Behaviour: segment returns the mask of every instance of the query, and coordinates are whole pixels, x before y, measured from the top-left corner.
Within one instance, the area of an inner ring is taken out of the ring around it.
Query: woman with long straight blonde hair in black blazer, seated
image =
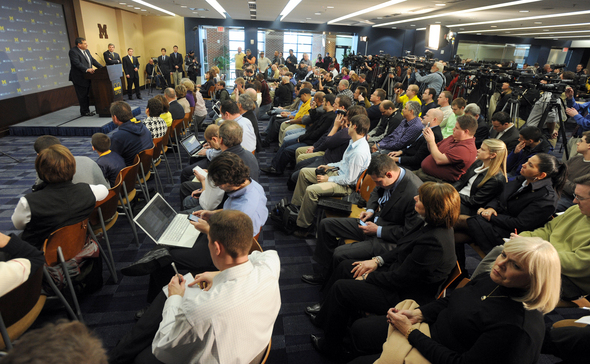
[[[477,150],[477,158],[467,173],[454,184],[461,197],[461,216],[465,224],[480,207],[498,197],[508,182],[506,177],[506,144],[499,139],[486,139]],[[466,224],[464,225],[467,226]]]

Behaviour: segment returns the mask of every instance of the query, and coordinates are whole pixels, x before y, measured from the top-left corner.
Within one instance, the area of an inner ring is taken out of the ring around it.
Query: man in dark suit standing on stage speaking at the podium
[[[90,112],[90,100],[88,95],[90,94],[90,80],[84,78],[86,73],[94,73],[94,68],[103,67],[98,63],[88,51],[88,44],[85,38],[76,38],[76,46],[70,49],[70,69],[69,80],[74,84],[76,90],[76,96],[80,103],[80,114],[82,116],[92,116],[95,113]]]

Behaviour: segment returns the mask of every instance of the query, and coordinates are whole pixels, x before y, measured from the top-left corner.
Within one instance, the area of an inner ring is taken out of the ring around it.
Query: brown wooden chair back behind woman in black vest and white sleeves
[[[52,232],[43,245],[47,265],[53,267],[59,264],[57,248],[60,246],[66,262],[74,258],[84,248],[87,234],[88,219]]]

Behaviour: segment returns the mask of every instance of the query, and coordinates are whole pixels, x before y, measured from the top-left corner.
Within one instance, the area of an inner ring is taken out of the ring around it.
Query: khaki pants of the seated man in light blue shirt
[[[328,176],[336,176],[338,172],[328,172]],[[315,168],[303,168],[299,173],[297,186],[291,203],[301,206],[297,216],[297,226],[307,228],[314,223],[320,197],[346,196],[352,193],[350,186],[342,186],[334,182],[318,183]]]

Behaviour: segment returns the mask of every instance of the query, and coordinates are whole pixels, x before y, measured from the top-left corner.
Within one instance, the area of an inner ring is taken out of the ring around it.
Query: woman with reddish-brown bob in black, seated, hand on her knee
[[[323,303],[306,308],[312,322],[325,331],[325,338],[311,335],[316,350],[326,355],[342,352],[348,321],[359,311],[383,315],[404,298],[412,297],[420,304],[435,299],[456,265],[453,225],[461,203],[447,183],[426,182],[415,199],[424,224],[381,257],[342,261],[325,287]]]

